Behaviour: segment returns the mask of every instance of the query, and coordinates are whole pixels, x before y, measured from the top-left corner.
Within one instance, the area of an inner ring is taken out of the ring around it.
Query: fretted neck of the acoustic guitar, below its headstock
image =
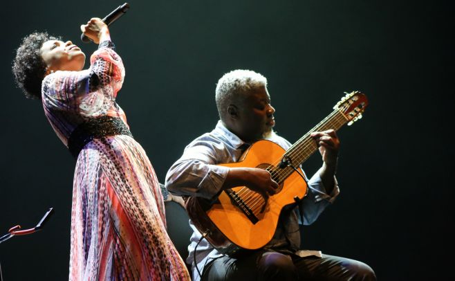
[[[287,158],[289,163],[291,163],[294,167],[298,167],[317,150],[317,143],[310,136],[311,133],[321,132],[328,129],[334,129],[337,131],[347,122],[348,120],[346,120],[346,117],[344,117],[340,111],[333,111],[326,118],[324,118],[324,120],[313,127],[313,129],[310,129],[308,133],[302,136],[299,141],[289,147],[289,149],[286,150],[286,153],[284,154],[284,158]],[[289,176],[289,174],[292,174],[294,172],[294,170],[289,167],[285,168],[285,170],[286,172],[284,174],[281,172],[280,181],[283,181],[287,176]]]

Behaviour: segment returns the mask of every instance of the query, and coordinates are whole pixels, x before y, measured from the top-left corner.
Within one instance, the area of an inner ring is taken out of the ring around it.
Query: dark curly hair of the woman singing
[[[27,98],[41,99],[41,82],[46,73],[46,64],[39,50],[44,42],[59,39],[46,32],[35,32],[24,37],[17,48],[15,60],[12,62],[12,73],[17,86],[24,91]]]

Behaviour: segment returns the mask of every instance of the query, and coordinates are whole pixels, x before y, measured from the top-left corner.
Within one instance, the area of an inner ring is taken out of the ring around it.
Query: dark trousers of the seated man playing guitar
[[[299,257],[259,251],[239,259],[218,257],[204,266],[201,280],[376,280],[376,277],[370,266],[345,257]]]

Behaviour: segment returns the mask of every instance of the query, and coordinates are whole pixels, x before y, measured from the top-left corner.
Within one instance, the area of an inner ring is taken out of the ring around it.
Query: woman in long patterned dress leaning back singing
[[[81,30],[99,44],[89,69],[80,48],[47,33],[25,37],[12,66],[77,158],[69,279],[189,280],[166,233],[156,174],[115,102],[124,66],[109,29],[93,18]]]

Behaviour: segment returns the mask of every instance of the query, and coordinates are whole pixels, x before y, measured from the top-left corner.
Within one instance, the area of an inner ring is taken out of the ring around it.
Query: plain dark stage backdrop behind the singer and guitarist
[[[366,93],[364,118],[340,129],[342,193],[305,248],[362,260],[380,280],[438,280],[454,248],[454,8],[451,1],[129,1],[111,26],[127,75],[118,103],[158,179],[193,138],[210,131],[214,89],[233,69],[268,78],[277,132],[294,142],[344,91]],[[15,87],[21,37],[47,30],[80,42],[80,24],[122,1],[8,1],[0,14],[0,244],[3,279],[68,279],[75,161],[40,103]],[[88,65],[86,65],[88,66]],[[320,156],[304,168],[313,174]]]

